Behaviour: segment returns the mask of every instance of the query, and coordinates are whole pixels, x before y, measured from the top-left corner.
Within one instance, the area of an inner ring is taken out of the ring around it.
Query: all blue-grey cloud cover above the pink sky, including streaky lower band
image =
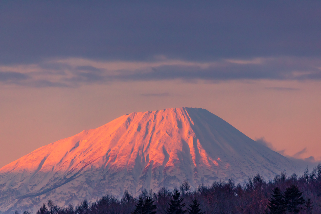
[[[0,81],[321,80],[320,10],[319,1],[0,2],[0,65],[39,68],[4,72]],[[63,62],[74,58],[158,64],[126,70]]]

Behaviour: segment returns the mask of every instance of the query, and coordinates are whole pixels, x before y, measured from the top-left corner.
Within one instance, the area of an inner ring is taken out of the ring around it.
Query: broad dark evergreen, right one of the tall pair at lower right
[[[289,213],[299,213],[302,209],[302,205],[305,203],[305,200],[301,195],[302,193],[296,185],[292,184],[289,188],[286,188],[284,199],[286,209]]]

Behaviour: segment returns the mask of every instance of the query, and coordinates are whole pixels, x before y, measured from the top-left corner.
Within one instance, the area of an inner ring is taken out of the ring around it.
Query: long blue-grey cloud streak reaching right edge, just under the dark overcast
[[[278,63],[278,64],[275,64]],[[320,63],[318,62],[318,65]],[[221,63],[219,65],[210,66],[208,68],[200,68],[198,66],[184,65],[163,65],[155,67],[157,72],[149,70],[139,70],[134,73],[118,73],[113,76],[105,76],[109,80],[320,80],[321,70],[311,68],[310,65],[303,67],[301,71],[295,65],[284,65],[279,62],[268,62],[266,64],[231,64]],[[310,72],[313,78],[308,78],[306,72]],[[319,75],[320,74],[320,75]],[[272,89],[272,88],[271,88]],[[293,88],[273,88],[274,90],[295,90]]]

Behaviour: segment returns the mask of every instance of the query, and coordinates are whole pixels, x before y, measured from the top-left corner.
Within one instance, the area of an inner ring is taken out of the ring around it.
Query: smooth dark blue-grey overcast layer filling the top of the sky
[[[0,63],[321,56],[320,1],[0,2]],[[307,74],[306,78],[320,78]]]

